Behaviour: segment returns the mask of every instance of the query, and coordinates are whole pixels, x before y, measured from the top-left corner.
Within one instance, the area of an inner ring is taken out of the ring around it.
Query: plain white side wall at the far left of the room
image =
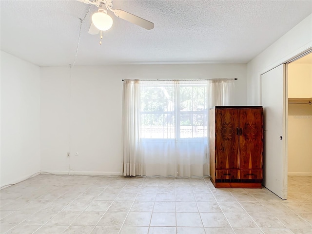
[[[40,68],[0,55],[0,186],[5,186],[40,171]]]

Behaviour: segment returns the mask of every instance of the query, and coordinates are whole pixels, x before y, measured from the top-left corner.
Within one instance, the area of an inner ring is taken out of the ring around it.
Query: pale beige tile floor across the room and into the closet
[[[269,190],[209,178],[39,175],[0,191],[1,234],[312,234],[312,177]]]

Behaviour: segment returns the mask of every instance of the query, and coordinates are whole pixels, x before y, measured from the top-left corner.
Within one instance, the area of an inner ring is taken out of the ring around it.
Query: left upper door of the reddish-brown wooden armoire
[[[237,109],[216,109],[215,160],[217,169],[235,169],[238,164]]]

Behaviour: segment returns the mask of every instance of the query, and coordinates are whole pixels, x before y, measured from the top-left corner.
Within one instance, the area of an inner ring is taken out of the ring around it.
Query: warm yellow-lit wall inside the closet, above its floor
[[[288,98],[298,98],[288,105],[288,175],[312,176],[312,104],[300,101],[312,98],[311,62],[288,64]]]

